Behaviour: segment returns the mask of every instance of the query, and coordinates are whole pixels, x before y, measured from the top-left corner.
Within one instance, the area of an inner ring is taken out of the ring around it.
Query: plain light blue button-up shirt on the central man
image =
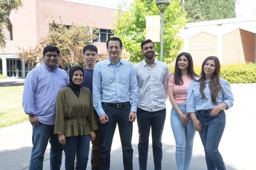
[[[137,111],[138,84],[131,62],[122,60],[117,65],[107,60],[96,63],[93,73],[93,105],[98,115],[104,114],[101,102],[131,101],[131,112]]]

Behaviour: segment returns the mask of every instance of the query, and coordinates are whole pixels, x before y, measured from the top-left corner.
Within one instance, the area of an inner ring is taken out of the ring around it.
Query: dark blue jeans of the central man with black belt
[[[129,121],[129,114],[131,105],[128,104],[124,107],[111,107],[102,105],[109,121],[101,124],[101,147],[100,147],[100,170],[110,169],[110,151],[112,141],[118,124],[118,130],[123,151],[123,165],[125,170],[132,169],[132,154],[133,149],[131,146],[132,137],[132,122]]]

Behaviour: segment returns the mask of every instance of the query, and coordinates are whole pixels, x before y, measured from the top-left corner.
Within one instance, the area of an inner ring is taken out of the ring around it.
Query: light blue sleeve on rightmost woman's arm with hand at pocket
[[[223,95],[223,103],[227,104],[227,109],[229,109],[231,106],[233,106],[233,102],[234,102],[234,97],[231,91],[231,87],[228,83],[228,81],[224,81],[223,85],[222,85],[222,95]]]

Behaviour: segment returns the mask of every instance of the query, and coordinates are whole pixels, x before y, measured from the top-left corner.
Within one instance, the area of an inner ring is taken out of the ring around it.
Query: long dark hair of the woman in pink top
[[[179,59],[183,55],[185,57],[187,57],[187,61],[188,61],[188,67],[187,67],[188,77],[190,77],[191,80],[193,80],[195,76],[198,77],[198,75],[194,72],[193,59],[192,59],[191,55],[189,53],[182,52],[177,56],[176,62],[175,62],[175,68],[174,68],[174,83],[175,83],[175,85],[182,85],[184,83],[183,79],[182,79],[182,75],[181,75],[181,70],[178,67]]]

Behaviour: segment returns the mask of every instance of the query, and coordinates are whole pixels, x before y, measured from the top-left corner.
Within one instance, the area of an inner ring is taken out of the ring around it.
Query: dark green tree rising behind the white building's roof
[[[185,0],[184,9],[190,22],[236,17],[234,0]]]

